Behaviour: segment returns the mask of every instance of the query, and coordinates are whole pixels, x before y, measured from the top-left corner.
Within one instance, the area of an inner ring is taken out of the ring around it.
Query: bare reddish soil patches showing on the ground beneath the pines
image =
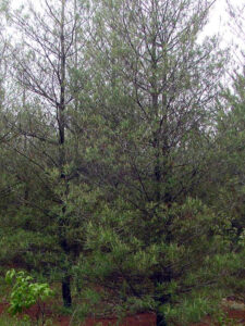
[[[8,303],[0,303],[0,314],[8,309]],[[245,325],[245,311],[244,310],[234,310],[234,309],[225,309],[228,312],[228,317],[237,322],[237,325]],[[38,308],[35,305],[28,309],[25,312],[33,319],[36,319]],[[53,319],[53,326],[70,326],[71,316],[57,316],[54,315],[50,309],[46,308],[46,316],[47,318],[51,317]],[[117,318],[87,318],[81,326],[96,326],[100,323],[100,326],[114,326],[117,323]],[[120,326],[155,326],[156,325],[156,316],[154,313],[142,313],[134,316],[127,316]],[[210,326],[213,325],[211,323],[211,318],[207,316],[201,323],[192,324],[191,326]],[[234,325],[234,324],[232,324]],[[226,325],[225,325],[226,326]],[[229,326],[229,324],[228,324]]]

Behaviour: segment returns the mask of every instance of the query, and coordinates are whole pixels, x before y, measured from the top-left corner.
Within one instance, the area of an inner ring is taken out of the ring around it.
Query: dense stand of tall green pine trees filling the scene
[[[228,52],[199,39],[212,2],[2,8],[3,269],[157,325],[243,292],[245,79],[221,84]]]

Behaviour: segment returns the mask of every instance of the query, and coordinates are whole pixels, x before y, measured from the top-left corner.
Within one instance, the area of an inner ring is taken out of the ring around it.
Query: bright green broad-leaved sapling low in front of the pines
[[[8,271],[5,281],[12,286],[9,309],[12,315],[22,313],[24,309],[36,303],[45,302],[53,294],[48,284],[34,283],[33,277],[22,271]]]

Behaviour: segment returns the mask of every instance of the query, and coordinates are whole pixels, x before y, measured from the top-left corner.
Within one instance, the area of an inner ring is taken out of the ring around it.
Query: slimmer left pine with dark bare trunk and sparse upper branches
[[[24,228],[30,242],[32,237],[41,235],[46,239],[46,243],[40,241],[37,244],[37,241],[33,244],[33,253],[36,251],[36,256],[40,255],[40,266],[51,263],[49,259],[45,263],[41,244],[47,252],[60,252],[60,259],[54,259],[51,265],[57,264],[62,278],[64,305],[71,306],[71,267],[78,249],[74,244],[76,240],[72,241],[69,236],[73,206],[69,171],[76,160],[76,152],[71,153],[70,146],[77,145],[71,140],[75,136],[70,131],[70,120],[71,112],[76,110],[75,97],[79,90],[77,83],[76,89],[73,88],[81,51],[77,38],[83,25],[83,18],[78,22],[77,17],[83,10],[85,18],[86,7],[65,0],[58,3],[42,1],[40,4],[42,9],[39,11],[30,7],[11,14],[13,26],[22,33],[22,42],[11,48],[12,75],[22,92],[21,110],[17,110],[16,120],[13,116],[9,120],[17,134],[16,141],[9,142],[9,149],[17,155],[15,176],[24,188],[24,197],[20,196],[23,212],[19,212],[22,216],[16,228],[20,231]],[[19,164],[25,166],[27,175]],[[25,218],[30,218],[32,214],[36,215],[39,225],[29,222],[26,227]],[[38,263],[30,261],[30,266],[36,267]]]

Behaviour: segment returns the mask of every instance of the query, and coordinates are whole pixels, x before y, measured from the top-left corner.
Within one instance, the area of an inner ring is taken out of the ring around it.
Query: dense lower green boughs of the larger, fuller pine
[[[170,323],[198,322],[234,291],[243,269],[242,256],[222,237],[230,224],[197,199],[152,208],[150,218],[121,201],[118,211],[115,203],[100,210],[98,224],[87,229],[94,253],[81,259],[77,273],[113,288],[120,314],[157,310]],[[159,304],[162,296],[169,299]]]

